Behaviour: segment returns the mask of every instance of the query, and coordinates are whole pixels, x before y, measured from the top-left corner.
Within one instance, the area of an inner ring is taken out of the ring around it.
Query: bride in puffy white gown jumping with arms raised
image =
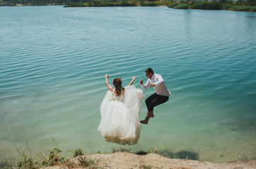
[[[132,77],[127,87],[122,87],[122,78],[115,78],[115,88],[109,84],[107,74],[105,79],[109,90],[100,105],[101,120],[98,131],[107,142],[136,144],[141,127],[141,100],[144,98],[142,90],[132,85],[136,77]]]

